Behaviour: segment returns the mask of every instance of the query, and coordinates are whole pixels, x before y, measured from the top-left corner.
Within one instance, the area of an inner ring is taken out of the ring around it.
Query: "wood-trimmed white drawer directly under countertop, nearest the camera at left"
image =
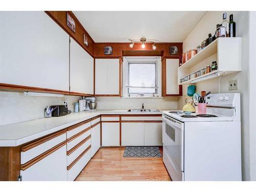
[[[65,140],[66,130],[63,130],[22,146],[20,163],[27,163]]]

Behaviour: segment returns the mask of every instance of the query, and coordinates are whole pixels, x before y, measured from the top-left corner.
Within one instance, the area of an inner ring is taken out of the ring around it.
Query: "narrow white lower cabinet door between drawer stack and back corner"
[[[93,157],[100,147],[100,123],[92,128],[91,142],[91,157]]]

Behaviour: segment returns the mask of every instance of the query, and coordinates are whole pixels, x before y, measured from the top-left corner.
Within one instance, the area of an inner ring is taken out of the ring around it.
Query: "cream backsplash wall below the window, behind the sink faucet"
[[[141,109],[177,109],[177,97],[164,98],[120,98],[120,97],[97,97],[97,109],[99,110],[128,110]]]

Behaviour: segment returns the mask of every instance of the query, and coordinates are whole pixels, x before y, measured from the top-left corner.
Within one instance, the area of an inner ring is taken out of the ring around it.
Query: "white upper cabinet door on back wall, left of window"
[[[95,95],[119,95],[119,59],[95,59]]]

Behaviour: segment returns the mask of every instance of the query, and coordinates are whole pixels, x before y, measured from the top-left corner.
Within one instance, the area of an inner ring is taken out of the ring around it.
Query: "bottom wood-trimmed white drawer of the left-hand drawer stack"
[[[91,159],[91,145],[75,159],[68,167],[68,181],[74,181],[84,166]]]

